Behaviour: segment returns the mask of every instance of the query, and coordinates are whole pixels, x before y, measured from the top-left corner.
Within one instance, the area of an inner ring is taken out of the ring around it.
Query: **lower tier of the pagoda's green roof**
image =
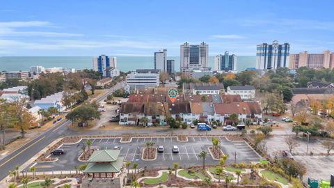
[[[111,163],[89,163],[84,173],[118,173],[123,166],[124,157]]]

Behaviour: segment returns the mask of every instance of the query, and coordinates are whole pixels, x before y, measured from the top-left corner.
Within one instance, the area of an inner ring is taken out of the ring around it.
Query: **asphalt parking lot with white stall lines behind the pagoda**
[[[244,141],[232,142],[219,137],[221,140],[221,150],[227,155],[227,164],[234,162],[234,154],[237,154],[237,162],[259,162],[260,156],[250,148]],[[212,146],[212,137],[189,137],[189,141],[180,142],[176,137],[145,137],[133,138],[131,143],[120,143],[120,138],[104,138],[91,139],[93,144],[90,147],[97,147],[100,149],[112,149],[115,146],[120,146],[120,156],[125,157],[125,161],[136,162],[140,168],[147,166],[154,169],[166,169],[173,166],[173,163],[178,162],[180,166],[196,166],[202,164],[202,159],[198,157],[202,150],[205,150],[208,155],[205,161],[206,164],[218,164],[209,155],[208,147]],[[78,161],[78,157],[82,152],[81,147],[87,139],[82,139],[80,143],[75,145],[63,145],[65,155],[58,156],[56,162],[39,162],[35,164],[37,171],[65,171],[74,169],[74,166],[82,164]],[[157,159],[153,161],[144,161],[141,159],[143,149],[145,148],[145,141],[153,141],[155,146],[164,146],[164,152],[157,154]],[[178,146],[179,153],[172,153],[171,148]],[[28,167],[29,168],[29,167]]]

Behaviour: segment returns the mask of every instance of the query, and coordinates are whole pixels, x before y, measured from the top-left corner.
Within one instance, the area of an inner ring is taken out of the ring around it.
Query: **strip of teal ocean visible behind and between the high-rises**
[[[168,59],[175,60],[175,70],[180,70],[180,57],[168,56]],[[246,68],[254,68],[255,56],[238,56],[237,70],[242,71]],[[41,65],[45,68],[62,67],[93,68],[92,56],[3,56],[0,57],[0,71],[29,71],[31,66]],[[154,68],[153,56],[117,56],[117,65],[120,70],[127,72],[141,68]],[[214,68],[214,56],[209,56],[209,67]]]

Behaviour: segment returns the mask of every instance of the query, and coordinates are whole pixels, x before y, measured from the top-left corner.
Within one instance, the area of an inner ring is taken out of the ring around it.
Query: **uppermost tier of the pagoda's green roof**
[[[96,150],[89,157],[88,162],[116,162],[120,150]]]

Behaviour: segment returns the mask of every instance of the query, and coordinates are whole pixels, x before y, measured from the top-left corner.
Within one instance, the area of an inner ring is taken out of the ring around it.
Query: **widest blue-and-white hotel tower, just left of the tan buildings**
[[[263,43],[257,45],[256,49],[256,68],[260,70],[264,69],[277,69],[281,67],[289,66],[289,43],[278,45],[277,40],[273,40],[272,45]]]

